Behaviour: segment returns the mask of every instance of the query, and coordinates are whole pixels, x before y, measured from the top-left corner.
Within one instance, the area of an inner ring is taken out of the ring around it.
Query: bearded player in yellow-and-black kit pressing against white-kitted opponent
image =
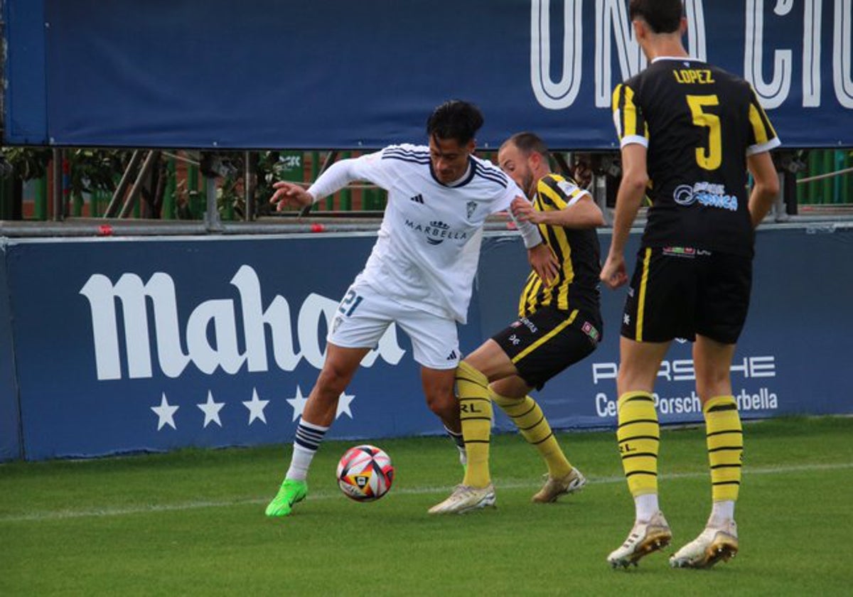
[[[465,479],[431,513],[462,513],[494,503],[488,461],[491,403],[508,414],[548,466],[533,501],[556,501],[586,483],[528,394],[589,356],[601,340],[595,228],[604,218],[589,193],[550,171],[548,148],[538,136],[525,132],[510,137],[498,152],[498,163],[531,198],[532,203],[514,200],[514,215],[537,224],[558,270],[548,280],[531,272],[521,293],[519,319],[460,363],[456,391],[467,449]]]

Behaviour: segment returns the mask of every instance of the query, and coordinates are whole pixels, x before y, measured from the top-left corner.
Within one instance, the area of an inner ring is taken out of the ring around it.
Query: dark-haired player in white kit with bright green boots
[[[525,196],[500,169],[473,155],[482,125],[476,106],[446,101],[427,120],[428,147],[392,145],[341,160],[308,189],[274,185],[270,202],[280,207],[310,205],[356,180],[385,188],[388,202],[373,252],[332,322],[326,360],[267,516],[287,516],[307,496],[308,468],[334,421],[338,398],[392,323],[412,341],[427,405],[451,434],[461,434],[453,392],[460,358],[456,324],[467,319],[486,217]],[[556,259],[536,226],[518,222],[518,227],[531,266],[543,279],[554,278]]]

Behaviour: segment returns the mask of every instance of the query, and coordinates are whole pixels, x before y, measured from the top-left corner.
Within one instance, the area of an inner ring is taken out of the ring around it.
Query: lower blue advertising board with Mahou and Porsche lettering
[[[39,460],[290,441],[328,323],[374,239],[7,241],[0,460],[20,449]],[[609,235],[601,239],[606,250]],[[527,268],[517,237],[487,235],[463,351],[514,320]],[[537,394],[555,428],[615,425],[624,290],[602,297],[600,348]],[[759,231],[751,313],[732,368],[746,419],[853,414],[844,375],[850,304],[853,230]],[[662,422],[702,420],[689,344],[673,344],[656,391]],[[441,431],[409,339],[392,327],[341,397],[329,436]]]

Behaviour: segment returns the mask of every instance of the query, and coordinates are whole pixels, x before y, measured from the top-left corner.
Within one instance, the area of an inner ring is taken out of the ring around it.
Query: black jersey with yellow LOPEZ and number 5
[[[780,144],[746,80],[689,58],[658,58],[613,91],[624,147],[648,149],[643,246],[752,255],[746,156]]]

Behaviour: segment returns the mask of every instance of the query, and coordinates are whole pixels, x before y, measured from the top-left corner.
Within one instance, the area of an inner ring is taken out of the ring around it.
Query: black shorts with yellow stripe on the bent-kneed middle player
[[[554,375],[588,356],[601,342],[601,316],[543,306],[492,336],[527,385],[542,390]]]

